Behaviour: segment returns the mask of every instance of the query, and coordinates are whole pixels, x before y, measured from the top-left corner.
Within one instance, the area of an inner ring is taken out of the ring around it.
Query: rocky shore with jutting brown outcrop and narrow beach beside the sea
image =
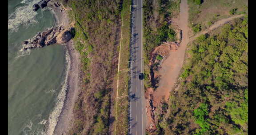
[[[47,135],[67,135],[73,124],[73,108],[79,95],[80,83],[80,59],[79,53],[74,49],[72,43],[73,27],[67,14],[69,8],[65,8],[57,0],[41,0],[37,5],[45,4],[55,15],[56,24],[44,32],[38,32],[32,39],[22,42],[22,51],[34,48],[42,48],[51,44],[62,44],[66,51],[67,61],[67,87],[61,110],[57,108],[57,114],[52,112],[46,126]],[[34,5],[33,7],[38,7]],[[45,6],[45,5],[44,5]],[[35,10],[34,10],[35,11]],[[35,11],[36,12],[36,11]],[[55,108],[56,109],[56,108]],[[59,113],[60,111],[60,113]],[[54,117],[54,118],[53,118]],[[53,118],[53,119],[52,119]]]

